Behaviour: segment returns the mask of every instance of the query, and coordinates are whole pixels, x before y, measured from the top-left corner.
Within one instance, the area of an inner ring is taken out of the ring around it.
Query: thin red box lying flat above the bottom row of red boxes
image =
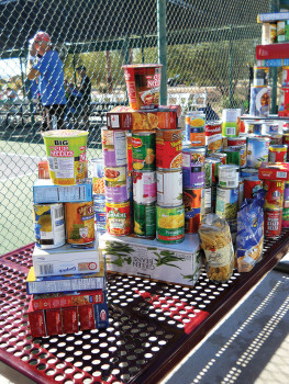
[[[103,303],[102,290],[82,291],[73,293],[49,293],[33,295],[31,305],[33,310],[82,306]]]

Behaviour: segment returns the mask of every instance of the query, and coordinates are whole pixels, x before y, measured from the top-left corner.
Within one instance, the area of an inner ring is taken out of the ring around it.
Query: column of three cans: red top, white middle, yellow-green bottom
[[[181,129],[156,132],[156,238],[176,244],[185,238]]]

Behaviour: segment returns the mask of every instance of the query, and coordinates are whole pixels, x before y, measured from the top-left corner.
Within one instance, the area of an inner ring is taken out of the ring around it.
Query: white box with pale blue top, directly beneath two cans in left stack
[[[99,256],[97,241],[88,249],[73,248],[68,244],[54,249],[35,246],[32,262],[37,278],[89,272],[104,275],[104,261]]]

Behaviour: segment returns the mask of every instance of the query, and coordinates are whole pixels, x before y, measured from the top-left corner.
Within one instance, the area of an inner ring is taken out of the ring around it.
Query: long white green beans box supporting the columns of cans
[[[185,240],[175,245],[104,234],[99,238],[99,248],[108,271],[123,274],[192,286],[202,268],[197,234],[186,234]]]

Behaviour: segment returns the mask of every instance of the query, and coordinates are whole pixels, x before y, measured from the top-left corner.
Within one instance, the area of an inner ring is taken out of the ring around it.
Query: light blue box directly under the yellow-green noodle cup
[[[35,204],[92,201],[92,181],[85,179],[76,185],[55,185],[51,179],[38,179],[33,184]]]

